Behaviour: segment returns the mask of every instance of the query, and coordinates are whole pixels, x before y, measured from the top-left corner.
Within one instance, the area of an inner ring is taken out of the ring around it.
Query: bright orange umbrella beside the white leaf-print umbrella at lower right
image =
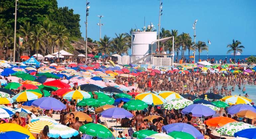
[[[232,118],[229,118],[229,117],[222,117],[222,116],[219,116],[219,117],[214,117],[214,118],[211,118],[209,120],[206,120],[204,123],[206,125],[209,125],[209,126],[223,126],[227,123],[230,123],[230,122],[237,122],[236,120],[232,119]]]

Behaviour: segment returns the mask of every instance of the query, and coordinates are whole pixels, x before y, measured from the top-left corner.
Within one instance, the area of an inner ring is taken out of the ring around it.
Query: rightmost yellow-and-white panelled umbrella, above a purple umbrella
[[[248,99],[246,97],[242,97],[242,96],[226,96],[223,97],[222,99],[220,99],[221,101],[224,101],[226,103],[229,103],[230,105],[233,104],[250,104],[252,102],[251,99]]]

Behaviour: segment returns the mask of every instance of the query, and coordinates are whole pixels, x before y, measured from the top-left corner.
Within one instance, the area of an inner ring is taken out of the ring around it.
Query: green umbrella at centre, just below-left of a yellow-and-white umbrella
[[[138,100],[138,99],[130,100],[126,104],[124,104],[124,109],[133,110],[133,111],[144,110],[147,107],[148,107],[148,105],[145,102]]]

